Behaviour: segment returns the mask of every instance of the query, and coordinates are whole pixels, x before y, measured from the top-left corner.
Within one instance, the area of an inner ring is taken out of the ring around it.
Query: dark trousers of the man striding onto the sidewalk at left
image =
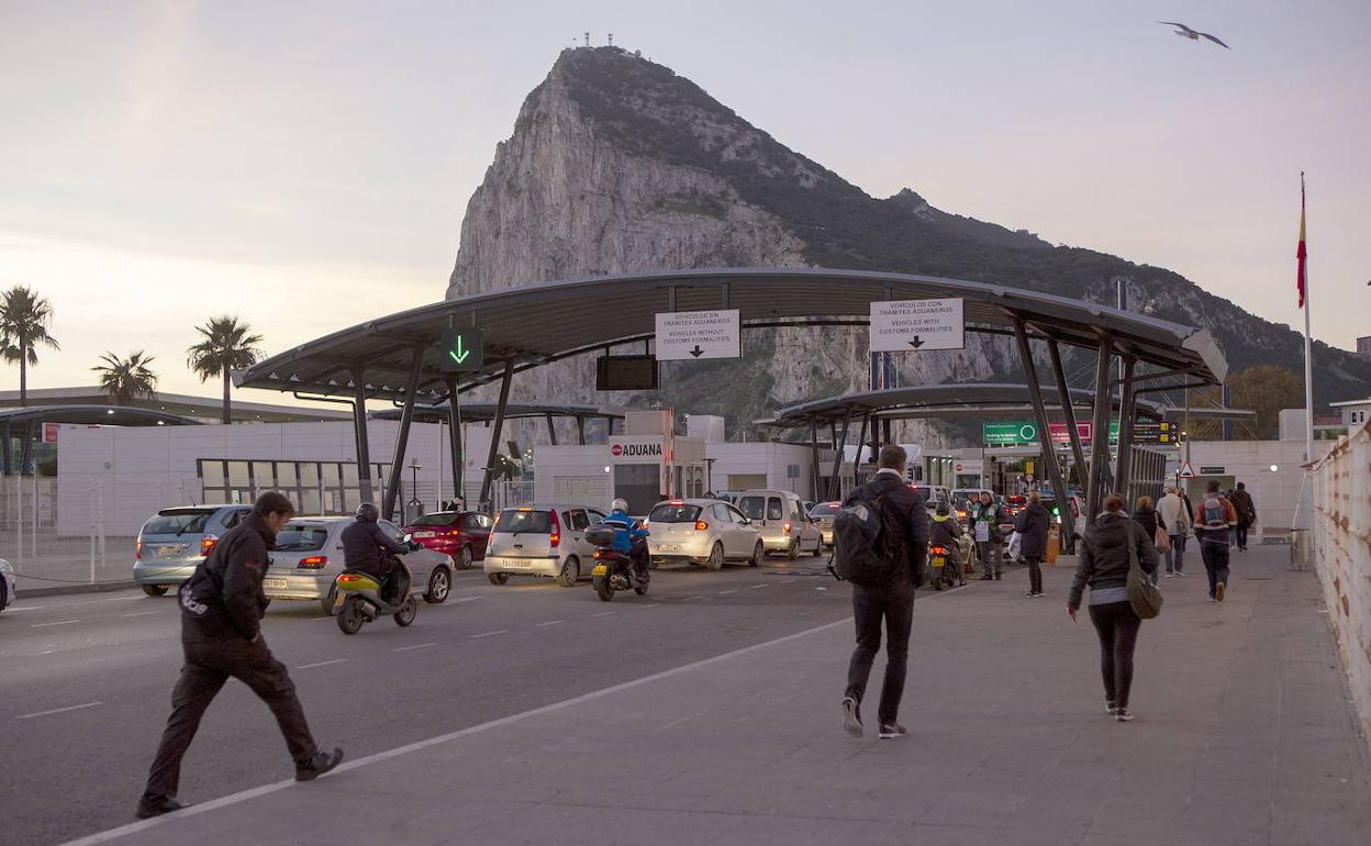
[[[147,799],[174,797],[181,783],[181,758],[191,747],[195,731],[200,727],[210,702],[229,677],[237,679],[252,688],[281,727],[285,746],[296,764],[308,761],[318,746],[304,721],[304,710],[295,695],[295,684],[285,672],[285,665],[271,657],[265,640],[217,640],[210,643],[184,643],[185,666],[181,679],[171,691],[171,716],[162,732],[162,745],[148,773],[148,786],[143,794]]]

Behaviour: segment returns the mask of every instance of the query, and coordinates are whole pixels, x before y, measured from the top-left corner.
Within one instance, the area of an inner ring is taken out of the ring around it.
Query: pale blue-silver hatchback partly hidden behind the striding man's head
[[[166,594],[189,579],[219,537],[251,511],[245,505],[162,509],[138,531],[133,580],[148,596]]]

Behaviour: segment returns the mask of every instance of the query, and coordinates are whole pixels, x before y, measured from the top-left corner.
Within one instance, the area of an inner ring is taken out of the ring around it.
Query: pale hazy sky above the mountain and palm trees
[[[873,196],[908,186],[1291,325],[1305,170],[1313,332],[1353,348],[1368,29],[1363,0],[0,0],[0,288],[55,310],[30,387],[145,350],[163,391],[206,395],[185,350],[211,315],[280,352],[436,302],[496,143],[588,30]]]

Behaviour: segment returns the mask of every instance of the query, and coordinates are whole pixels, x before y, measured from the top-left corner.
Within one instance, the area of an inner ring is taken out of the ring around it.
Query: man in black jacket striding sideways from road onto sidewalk
[[[177,591],[185,666],[171,692],[171,717],[138,799],[140,820],[184,808],[175,798],[181,758],[200,727],[200,717],[229,677],[251,687],[276,714],[295,761],[296,780],[317,779],[343,760],[341,749],[319,750],[291,676],[262,640],[267,553],[293,514],[295,507],[284,495],[263,494],[252,513],[223,535]]]

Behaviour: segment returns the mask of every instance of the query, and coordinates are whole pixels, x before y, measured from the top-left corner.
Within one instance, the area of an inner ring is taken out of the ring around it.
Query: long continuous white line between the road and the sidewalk
[[[613,612],[606,612],[606,613],[613,613]],[[391,758],[398,758],[398,757],[406,756],[406,754],[409,754],[411,751],[420,751],[420,750],[424,750],[424,749],[430,749],[433,746],[441,746],[444,743],[451,743],[454,740],[461,740],[462,738],[469,738],[472,735],[478,735],[481,732],[491,731],[492,728],[502,728],[505,725],[520,723],[522,720],[528,720],[528,718],[532,718],[532,717],[540,717],[543,714],[550,714],[550,713],[554,713],[554,712],[558,712],[558,710],[562,710],[562,709],[566,709],[566,708],[572,708],[572,706],[576,706],[576,705],[581,705],[581,703],[585,703],[585,702],[594,702],[595,699],[600,699],[603,697],[609,697],[609,695],[613,695],[613,694],[617,694],[617,692],[622,692],[625,690],[633,690],[635,687],[642,687],[644,684],[651,684],[654,681],[661,681],[662,679],[670,679],[673,676],[680,676],[683,673],[694,672],[694,670],[705,668],[705,666],[710,666],[710,665],[714,665],[714,664],[721,664],[724,661],[729,661],[729,660],[736,658],[739,655],[746,655],[749,653],[755,653],[755,651],[760,651],[760,650],[764,650],[764,649],[769,649],[772,646],[780,646],[781,643],[788,643],[791,640],[798,640],[799,638],[808,638],[809,635],[814,635],[814,633],[818,633],[818,632],[823,632],[823,631],[827,631],[827,629],[831,629],[831,628],[838,628],[840,625],[851,625],[851,624],[853,624],[851,614],[845,614],[842,620],[835,620],[834,623],[825,623],[823,625],[816,625],[814,628],[808,628],[808,629],[805,629],[802,632],[795,632],[794,635],[786,635],[784,638],[776,638],[775,640],[768,640],[765,643],[757,643],[757,644],[753,644],[753,646],[744,646],[743,649],[738,649],[738,650],[733,650],[731,653],[724,653],[721,655],[714,655],[713,658],[705,658],[702,661],[695,661],[694,664],[684,664],[681,666],[675,666],[672,669],[662,670],[659,673],[653,673],[651,676],[643,676],[642,679],[633,679],[631,681],[624,681],[622,684],[614,684],[611,687],[605,687],[605,688],[600,688],[600,690],[596,690],[596,691],[591,691],[588,694],[581,694],[580,697],[573,697],[570,699],[563,699],[561,702],[553,702],[551,705],[544,705],[542,708],[535,708],[533,710],[526,710],[526,712],[522,712],[522,713],[518,713],[518,714],[510,714],[507,717],[500,717],[498,720],[491,720],[489,723],[481,723],[480,725],[472,725],[469,728],[462,728],[462,729],[458,729],[458,731],[454,731],[454,732],[448,732],[446,735],[439,735],[436,738],[428,738],[426,740],[418,740],[418,742],[410,743],[407,746],[398,746],[395,749],[388,749],[385,751],[378,751],[376,754],[366,756],[365,758],[358,758],[355,761],[348,761],[347,764],[343,764],[341,766],[339,766],[333,772],[325,773],[321,777],[330,779],[336,773],[344,773],[344,772],[347,772],[350,769],[358,769],[359,766],[367,766],[370,764],[380,764],[381,761],[389,761]],[[285,790],[288,787],[295,787],[295,786],[296,786],[295,779],[288,779],[288,780],[284,780],[284,782],[273,782],[271,784],[262,784],[260,787],[252,787],[250,790],[244,790],[241,793],[236,793],[236,794],[232,794],[232,795],[221,797],[218,799],[211,799],[208,802],[199,802],[196,805],[191,805],[185,810],[178,810],[174,814],[166,814],[166,816],[160,816],[160,817],[154,817],[151,820],[141,820],[138,823],[129,823],[129,824],[121,825],[118,828],[110,828],[107,831],[100,831],[97,834],[92,834],[89,836],[85,836],[85,838],[81,838],[81,839],[77,839],[77,841],[70,841],[64,846],[96,846],[96,843],[108,843],[110,841],[114,841],[117,838],[123,838],[123,836],[128,836],[128,835],[133,835],[133,834],[137,834],[140,831],[148,831],[148,830],[155,828],[158,825],[166,825],[167,823],[174,823],[175,820],[185,820],[188,817],[195,817],[195,816],[199,816],[202,813],[208,813],[211,810],[218,810],[219,808],[229,808],[230,805],[239,805],[239,803],[247,802],[248,799],[255,799],[258,797],[265,797],[265,795],[270,795],[273,793],[280,793],[280,791],[282,791],[282,790]]]

